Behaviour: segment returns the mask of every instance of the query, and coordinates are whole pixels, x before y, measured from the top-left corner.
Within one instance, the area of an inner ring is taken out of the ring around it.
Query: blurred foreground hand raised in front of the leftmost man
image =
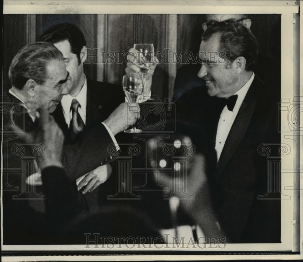
[[[18,132],[19,138],[25,143],[37,143],[44,146],[44,153],[37,156],[37,163],[40,170],[48,166],[62,167],[62,148],[64,142],[64,135],[58,124],[55,122],[47,108],[37,106],[32,103],[26,103],[28,112],[36,116],[35,121],[38,122],[37,129],[32,132],[20,132],[18,126],[14,126],[13,131]],[[37,113],[38,112],[38,113]]]

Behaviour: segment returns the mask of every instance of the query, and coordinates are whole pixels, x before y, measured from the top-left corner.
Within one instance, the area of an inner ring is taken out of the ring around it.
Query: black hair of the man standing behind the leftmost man
[[[82,31],[74,24],[58,24],[45,30],[39,37],[40,41],[51,42],[53,44],[68,40],[71,45],[71,52],[77,55],[79,65],[80,52],[86,45],[86,40]]]

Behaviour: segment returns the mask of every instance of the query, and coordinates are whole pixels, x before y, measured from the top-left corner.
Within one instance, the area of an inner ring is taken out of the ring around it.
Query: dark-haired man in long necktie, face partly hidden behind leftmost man
[[[120,86],[97,82],[84,74],[83,63],[86,60],[87,52],[86,40],[81,30],[73,24],[58,24],[43,32],[40,40],[53,43],[62,52],[66,69],[70,74],[68,94],[63,96],[53,114],[64,131],[65,143],[74,143],[81,139],[83,132],[92,128],[95,123],[103,121],[112,141],[117,144],[115,135],[118,132],[115,123],[107,118],[115,108],[125,101],[124,93]],[[75,115],[78,116],[77,121],[74,121],[73,112],[75,110],[73,107],[78,112]],[[77,179],[78,190],[85,194],[84,199],[90,210],[94,210],[95,205],[99,202],[98,193],[102,192],[102,202],[106,200],[108,194],[111,194],[108,191],[111,188],[108,185],[110,182],[106,181],[112,172],[111,166],[107,164],[109,160],[111,160],[111,156],[105,157],[104,160],[101,160],[104,163],[102,166],[85,176],[79,177],[77,173],[68,173],[71,180]],[[80,197],[83,198],[83,196]]]

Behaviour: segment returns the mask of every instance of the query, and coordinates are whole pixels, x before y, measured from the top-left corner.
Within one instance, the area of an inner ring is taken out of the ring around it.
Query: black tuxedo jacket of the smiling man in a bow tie
[[[177,118],[200,125],[215,142],[218,116],[223,109],[219,100],[208,96],[204,88],[192,89],[178,100]],[[268,192],[271,172],[258,146],[274,143],[270,145],[271,151],[279,159],[278,102],[276,91],[265,87],[255,76],[211,176],[219,222],[234,243],[280,242],[279,171],[271,178],[277,183],[278,192],[258,200],[258,196]]]

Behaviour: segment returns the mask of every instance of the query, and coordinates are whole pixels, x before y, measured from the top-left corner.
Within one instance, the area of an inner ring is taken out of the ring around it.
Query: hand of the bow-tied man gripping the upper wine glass
[[[133,48],[129,49],[127,55],[128,63],[126,64],[126,69],[125,69],[126,74],[138,73],[141,71],[140,67],[138,66],[138,59],[139,59],[138,51]],[[143,62],[142,58],[141,60],[142,61],[140,62]],[[148,71],[144,75],[145,77],[144,93],[143,93],[144,96],[148,96],[151,92],[151,79],[158,62],[159,62],[158,59],[154,56],[151,66],[149,67]]]

